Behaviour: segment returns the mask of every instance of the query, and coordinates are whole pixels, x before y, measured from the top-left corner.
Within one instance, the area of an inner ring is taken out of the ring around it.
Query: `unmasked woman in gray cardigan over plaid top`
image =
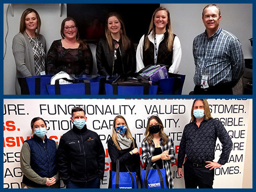
[[[40,35],[41,19],[34,9],[26,9],[20,18],[19,33],[13,38],[16,63],[16,94],[20,94],[17,77],[31,77],[45,71],[46,41]]]

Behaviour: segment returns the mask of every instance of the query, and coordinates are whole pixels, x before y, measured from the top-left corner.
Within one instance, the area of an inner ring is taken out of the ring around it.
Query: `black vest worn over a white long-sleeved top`
[[[175,34],[173,34],[173,40],[175,38]],[[143,63],[144,66],[149,66],[154,63],[154,44],[152,42],[149,42],[149,48],[145,50],[145,42],[146,42],[147,35],[144,36],[144,46],[143,46]],[[158,53],[157,53],[157,60],[156,63],[164,64],[166,66],[169,66],[169,68],[172,66],[172,57],[173,57],[173,50],[168,51],[166,47],[166,42],[168,38],[168,32],[166,31],[163,41],[159,44],[158,47]]]

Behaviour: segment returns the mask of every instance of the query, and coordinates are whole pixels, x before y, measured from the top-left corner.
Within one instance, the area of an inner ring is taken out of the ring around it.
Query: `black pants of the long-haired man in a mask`
[[[194,167],[188,160],[184,163],[185,188],[212,188],[214,169]]]

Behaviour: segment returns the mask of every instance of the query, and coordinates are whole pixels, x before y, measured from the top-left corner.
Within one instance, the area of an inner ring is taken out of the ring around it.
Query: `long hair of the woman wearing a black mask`
[[[159,126],[160,126],[159,135],[160,135],[160,137],[164,140],[164,141],[163,141],[163,145],[166,145],[166,144],[168,143],[168,137],[169,137],[169,136],[165,134],[163,122],[162,122],[161,119],[160,119],[158,116],[156,116],[156,115],[152,115],[152,116],[150,116],[150,117],[148,118],[146,131],[145,131],[145,133],[144,133],[145,138],[144,138],[143,141],[147,141],[147,142],[149,143],[149,145],[152,145],[152,144],[153,144],[153,142],[152,142],[152,140],[153,140],[153,134],[149,132],[149,125],[150,125],[150,121],[151,121],[152,119],[155,119],[155,120],[158,122],[158,124],[159,124]]]

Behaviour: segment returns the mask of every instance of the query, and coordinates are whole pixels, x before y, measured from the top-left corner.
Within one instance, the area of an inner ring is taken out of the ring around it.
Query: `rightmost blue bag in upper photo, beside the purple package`
[[[167,79],[152,81],[153,85],[158,85],[157,94],[181,94],[185,81],[185,75],[168,73]]]

